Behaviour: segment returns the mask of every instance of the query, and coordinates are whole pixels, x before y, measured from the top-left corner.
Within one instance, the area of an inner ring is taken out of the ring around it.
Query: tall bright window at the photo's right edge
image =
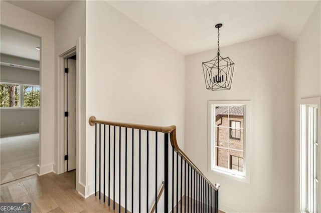
[[[318,212],[320,205],[318,171],[318,109],[320,98],[306,98],[300,105],[300,208],[301,212]]]

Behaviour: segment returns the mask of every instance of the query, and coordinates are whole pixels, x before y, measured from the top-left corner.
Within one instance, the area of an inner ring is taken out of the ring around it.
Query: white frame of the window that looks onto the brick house
[[[244,106],[243,144],[244,161],[243,172],[216,166],[215,163],[215,135],[216,135],[216,106]],[[250,183],[250,128],[251,128],[251,101],[250,100],[210,100],[208,101],[208,171],[234,180]]]

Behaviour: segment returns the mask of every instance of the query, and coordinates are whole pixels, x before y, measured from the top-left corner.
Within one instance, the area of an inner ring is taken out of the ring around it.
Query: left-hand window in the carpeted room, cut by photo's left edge
[[[0,83],[0,107],[20,107],[20,85]]]

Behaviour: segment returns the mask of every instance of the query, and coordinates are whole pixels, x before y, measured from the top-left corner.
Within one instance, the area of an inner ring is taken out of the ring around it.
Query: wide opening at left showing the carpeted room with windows
[[[1,25],[0,184],[36,174],[41,38]]]

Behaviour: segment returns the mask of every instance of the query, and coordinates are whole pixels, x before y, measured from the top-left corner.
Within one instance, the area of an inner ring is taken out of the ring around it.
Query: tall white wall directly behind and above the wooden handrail
[[[175,124],[183,146],[184,56],[106,1],[87,2],[86,70],[87,119]],[[94,192],[94,127],[87,125],[86,139],[88,195]]]

